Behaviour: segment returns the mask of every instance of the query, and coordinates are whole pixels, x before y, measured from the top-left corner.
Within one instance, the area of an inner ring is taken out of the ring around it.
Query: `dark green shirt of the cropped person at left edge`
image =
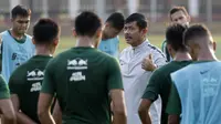
[[[9,97],[10,97],[9,87],[7,86],[7,83],[3,80],[2,75],[0,75],[0,100]]]

